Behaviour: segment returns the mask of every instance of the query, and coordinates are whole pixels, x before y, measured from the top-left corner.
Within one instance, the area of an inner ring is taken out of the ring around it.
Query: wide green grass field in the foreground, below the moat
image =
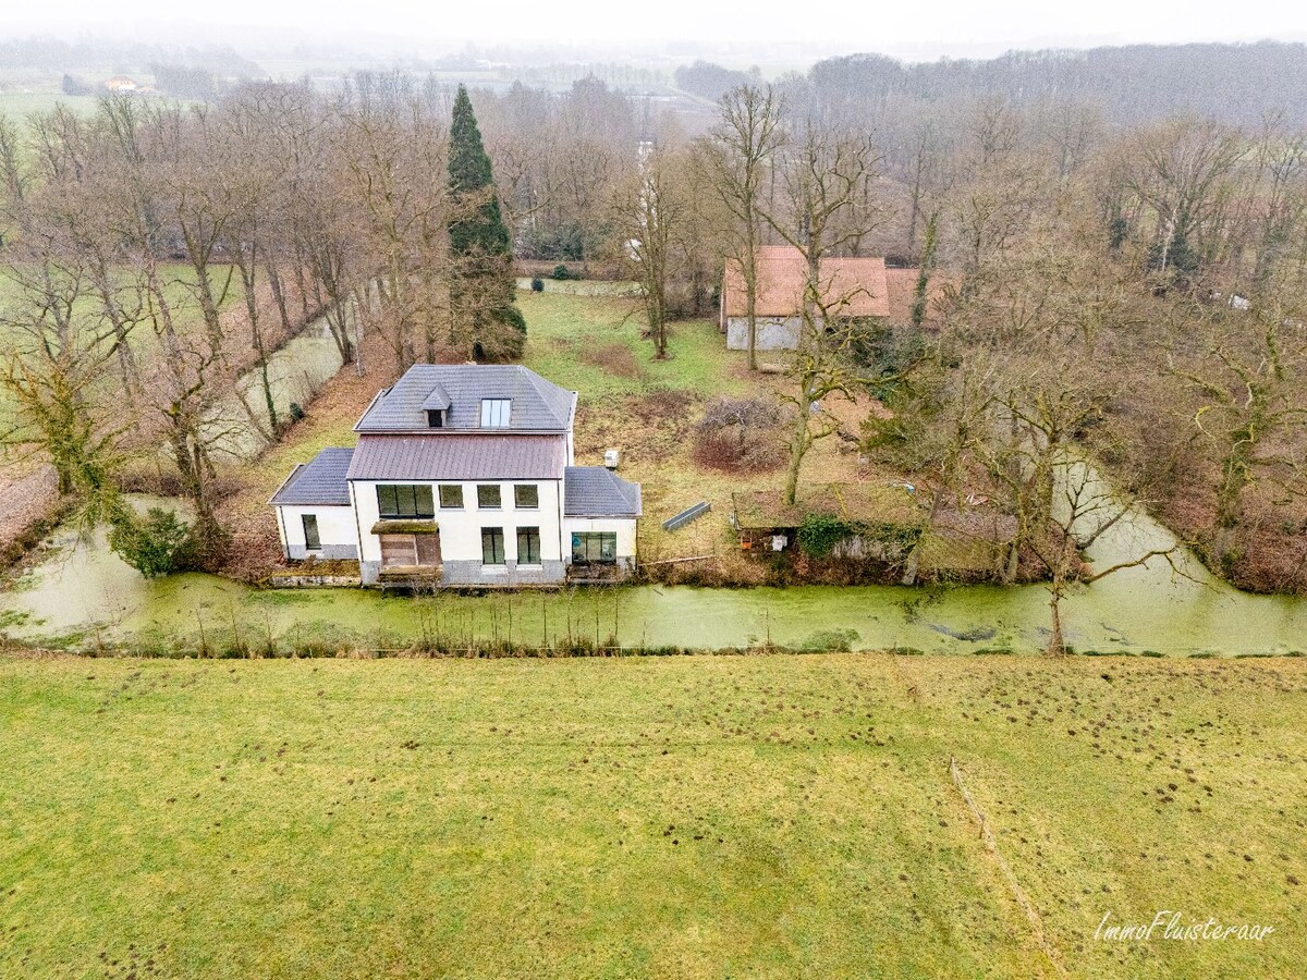
[[[0,660],[0,976],[1307,962],[1307,665]],[[1261,943],[1093,938],[1158,909]]]

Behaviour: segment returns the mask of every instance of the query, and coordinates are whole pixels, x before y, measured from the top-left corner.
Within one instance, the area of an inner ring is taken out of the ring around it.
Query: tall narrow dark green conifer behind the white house
[[[450,125],[451,341],[472,359],[521,355],[527,323],[514,304],[512,247],[490,157],[463,85]]]

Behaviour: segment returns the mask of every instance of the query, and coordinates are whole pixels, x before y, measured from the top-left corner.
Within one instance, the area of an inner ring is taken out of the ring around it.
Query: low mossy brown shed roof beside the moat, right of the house
[[[915,495],[902,486],[884,483],[814,483],[800,487],[792,504],[780,490],[732,494],[736,524],[767,531],[797,528],[809,514],[823,514],[848,523],[919,527],[925,512]]]

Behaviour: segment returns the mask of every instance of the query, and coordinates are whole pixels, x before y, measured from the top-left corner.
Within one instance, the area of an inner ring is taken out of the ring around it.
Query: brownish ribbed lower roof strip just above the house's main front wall
[[[558,480],[566,465],[563,435],[362,435],[349,480]]]

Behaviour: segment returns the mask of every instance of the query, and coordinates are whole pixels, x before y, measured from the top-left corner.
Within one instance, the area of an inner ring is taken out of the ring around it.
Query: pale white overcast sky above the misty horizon
[[[17,5],[17,0],[12,0]],[[8,7],[9,4],[7,4]],[[107,18],[112,18],[110,22]],[[305,41],[362,35],[393,38],[396,48],[476,43],[605,43],[651,41],[810,42],[843,51],[884,51],[910,57],[983,54],[1008,47],[1123,44],[1133,42],[1307,39],[1300,0],[935,0],[921,3],[812,3],[753,0],[52,0],[7,10],[0,35],[48,31],[136,34],[192,43],[259,44],[242,27],[293,31]],[[222,30],[214,31],[214,27]],[[193,30],[192,30],[193,29]],[[235,29],[235,30],[233,30]],[[274,41],[264,37],[264,43]],[[261,44],[259,44],[261,46]],[[614,52],[616,55],[617,52]]]

